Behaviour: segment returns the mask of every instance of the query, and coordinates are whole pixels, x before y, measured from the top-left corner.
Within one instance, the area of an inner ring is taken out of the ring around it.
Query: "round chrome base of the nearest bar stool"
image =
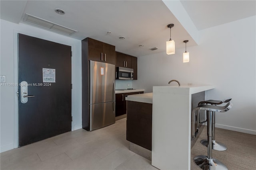
[[[228,170],[218,159],[209,159],[204,155],[194,157],[194,162],[202,170]]]

